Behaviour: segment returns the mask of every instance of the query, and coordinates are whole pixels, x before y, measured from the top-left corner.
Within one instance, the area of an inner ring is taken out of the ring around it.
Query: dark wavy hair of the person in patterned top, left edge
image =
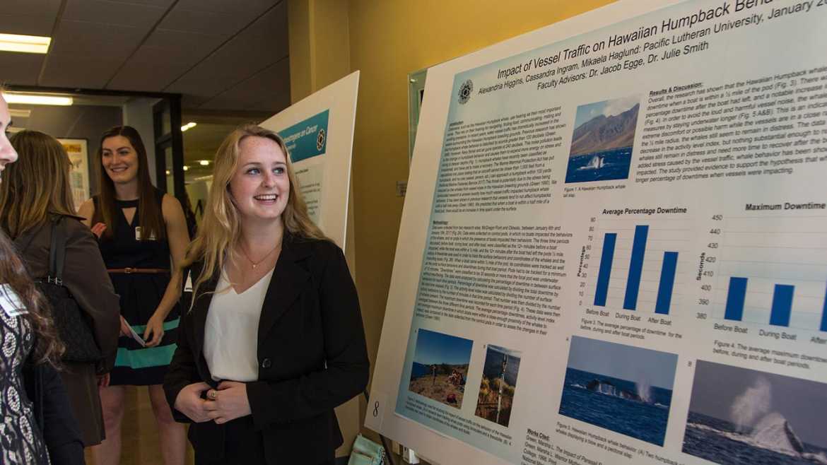
[[[26,319],[31,322],[31,328],[37,336],[31,360],[36,363],[48,362],[56,366],[65,347],[51,319],[49,303],[37,290],[26,266],[23,266],[23,262],[17,256],[12,242],[3,232],[0,232],[0,283],[10,285],[26,306]]]

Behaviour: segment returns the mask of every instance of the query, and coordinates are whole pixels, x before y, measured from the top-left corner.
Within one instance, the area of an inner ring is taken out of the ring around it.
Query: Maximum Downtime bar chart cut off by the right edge
[[[715,316],[827,332],[827,216],[726,219]]]

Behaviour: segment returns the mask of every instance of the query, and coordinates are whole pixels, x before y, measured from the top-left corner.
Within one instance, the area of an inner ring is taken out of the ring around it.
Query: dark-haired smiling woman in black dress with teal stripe
[[[95,448],[98,465],[121,456],[124,386],[149,386],[166,465],[183,465],[186,438],[167,405],[161,383],[178,339],[179,272],[189,244],[181,204],[155,189],[141,136],[133,127],[103,133],[98,150],[100,194],[79,214],[100,237],[103,261],[121,296],[122,337],[108,386],[101,390],[106,440]],[[172,262],[170,263],[170,256]],[[177,268],[175,268],[177,270]],[[131,331],[146,340],[146,347]]]

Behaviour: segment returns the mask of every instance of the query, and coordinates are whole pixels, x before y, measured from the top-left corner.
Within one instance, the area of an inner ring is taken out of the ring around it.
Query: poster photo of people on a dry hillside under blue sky
[[[419,329],[408,390],[460,409],[473,346],[471,339]]]

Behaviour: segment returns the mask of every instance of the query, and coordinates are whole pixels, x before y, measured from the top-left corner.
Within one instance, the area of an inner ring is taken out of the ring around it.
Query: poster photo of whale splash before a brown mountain
[[[629,178],[639,109],[637,95],[577,107],[566,183]]]

